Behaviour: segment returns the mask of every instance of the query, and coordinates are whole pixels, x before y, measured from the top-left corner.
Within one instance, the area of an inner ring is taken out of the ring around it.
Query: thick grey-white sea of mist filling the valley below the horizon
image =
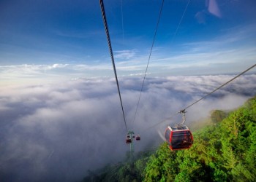
[[[135,152],[162,142],[158,131],[195,100],[233,78],[147,78],[135,117],[142,78],[121,77],[129,130],[139,133]],[[256,75],[241,76],[187,109],[187,125],[213,109],[231,110],[256,95]],[[135,119],[134,119],[135,118]],[[126,129],[114,79],[78,79],[56,84],[1,87],[0,181],[79,181],[88,170],[126,157]]]

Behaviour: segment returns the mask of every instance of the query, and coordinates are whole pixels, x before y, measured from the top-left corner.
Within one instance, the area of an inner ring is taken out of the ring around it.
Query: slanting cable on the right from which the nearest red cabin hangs
[[[221,86],[217,87],[217,89],[215,89],[214,91],[209,92],[207,95],[205,95],[205,96],[203,96],[202,98],[196,100],[194,103],[190,104],[190,105],[187,106],[186,108],[182,109],[181,111],[178,111],[178,112],[174,113],[172,116],[168,117],[167,119],[162,120],[162,122],[158,122],[158,123],[152,125],[151,127],[148,127],[146,130],[149,130],[149,129],[153,128],[153,127],[156,127],[158,124],[162,124],[163,122],[167,122],[168,120],[170,120],[171,118],[173,118],[173,116],[176,116],[177,114],[180,114],[181,112],[186,111],[187,108],[189,108],[189,107],[195,105],[195,104],[198,103],[200,100],[203,100],[204,98],[208,97],[208,96],[211,95],[212,93],[214,93],[214,92],[216,92],[217,90],[219,90],[220,88],[224,87],[226,84],[232,82],[234,79],[237,79],[237,78],[238,78],[239,76],[241,76],[242,74],[245,74],[247,71],[251,70],[251,69],[254,68],[255,66],[256,66],[256,64],[253,65],[253,66],[251,66],[251,67],[249,67],[249,68],[247,68],[245,71],[241,72],[241,74],[238,74],[237,76],[233,77],[233,79],[230,79],[228,82],[225,82],[225,84],[222,84]]]

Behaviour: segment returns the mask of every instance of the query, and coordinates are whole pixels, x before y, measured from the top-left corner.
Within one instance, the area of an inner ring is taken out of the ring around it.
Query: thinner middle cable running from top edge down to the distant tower
[[[165,2],[165,0],[162,0],[162,5],[161,5],[161,8],[160,8],[160,12],[159,12],[158,20],[157,20],[157,28],[154,31],[154,38],[153,38],[153,42],[152,42],[152,45],[151,45],[151,50],[150,50],[150,53],[149,53],[149,56],[148,56],[148,63],[147,63],[147,66],[146,66],[146,71],[145,71],[145,74],[144,74],[143,83],[142,83],[142,86],[141,86],[141,89],[140,89],[140,96],[139,96],[139,100],[138,100],[138,103],[137,103],[137,106],[136,106],[136,111],[135,111],[135,116],[134,116],[134,119],[133,119],[133,123],[135,122],[135,118],[136,118],[136,115],[137,115],[138,106],[139,106],[139,103],[140,103],[140,97],[141,97],[144,82],[145,82],[145,79],[146,79],[146,74],[147,74],[147,71],[148,71],[148,64],[149,64],[149,61],[150,61],[150,58],[151,58],[151,53],[152,53],[152,50],[153,50],[153,47],[154,47],[154,41],[155,41],[156,36],[157,36],[157,29],[158,29],[158,25],[159,25],[161,15],[162,15],[162,7],[164,6],[164,2]]]

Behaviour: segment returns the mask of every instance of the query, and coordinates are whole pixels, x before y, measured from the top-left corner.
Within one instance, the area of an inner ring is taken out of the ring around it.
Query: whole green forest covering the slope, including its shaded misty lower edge
[[[170,151],[165,142],[83,181],[255,181],[256,97],[235,111],[212,111],[210,119],[193,132],[190,149]]]

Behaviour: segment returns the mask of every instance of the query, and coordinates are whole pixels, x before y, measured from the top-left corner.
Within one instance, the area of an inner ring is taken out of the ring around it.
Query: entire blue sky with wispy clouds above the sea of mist
[[[145,72],[161,3],[105,0],[118,76]],[[165,0],[148,74],[252,66],[255,7],[254,0]],[[2,0],[0,9],[1,84],[113,76],[99,1]]]

